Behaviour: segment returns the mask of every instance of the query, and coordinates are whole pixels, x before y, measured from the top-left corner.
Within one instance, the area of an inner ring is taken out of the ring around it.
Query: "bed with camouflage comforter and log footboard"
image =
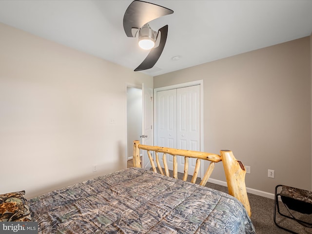
[[[153,170],[141,168],[143,150],[152,159]],[[194,183],[195,179],[191,182],[177,179],[175,168],[173,177],[167,176],[166,165],[163,170],[160,165],[156,170],[151,151],[156,154],[157,167],[160,154],[164,158],[168,154],[176,158],[191,153],[192,156],[185,157],[212,163],[200,185]],[[219,156],[140,145],[134,141],[133,158],[135,167],[30,199],[27,205],[31,221],[38,222],[39,234],[255,233],[244,182],[245,169],[231,151],[221,151]],[[229,174],[226,177],[231,195],[203,186],[218,161],[223,162],[226,175]]]

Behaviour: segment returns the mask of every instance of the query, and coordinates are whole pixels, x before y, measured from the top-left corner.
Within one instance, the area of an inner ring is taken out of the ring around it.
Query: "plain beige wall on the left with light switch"
[[[126,82],[153,86],[152,77],[0,23],[0,194],[30,198],[125,168]]]

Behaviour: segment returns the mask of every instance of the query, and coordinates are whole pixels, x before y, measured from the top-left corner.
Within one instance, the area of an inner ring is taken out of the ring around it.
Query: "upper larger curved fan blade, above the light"
[[[123,29],[127,37],[134,37],[132,28],[141,28],[144,24],[159,17],[174,13],[166,7],[154,3],[135,0],[128,6],[123,16]]]

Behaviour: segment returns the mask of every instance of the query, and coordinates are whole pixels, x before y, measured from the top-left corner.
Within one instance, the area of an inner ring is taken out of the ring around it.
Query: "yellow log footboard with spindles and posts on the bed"
[[[249,216],[251,216],[251,208],[247,196],[247,190],[245,185],[245,175],[246,170],[245,166],[241,161],[236,160],[234,157],[232,151],[229,150],[221,150],[220,155],[211,154],[211,153],[205,153],[205,152],[199,152],[199,151],[190,151],[190,150],[179,150],[179,149],[173,149],[173,148],[166,148],[166,147],[159,147],[159,146],[149,146],[149,145],[141,145],[138,140],[134,141],[133,145],[133,162],[135,167],[142,167],[141,159],[140,159],[140,150],[146,150],[147,155],[149,156],[151,166],[153,168],[153,171],[157,173],[157,169],[153,160],[153,157],[150,153],[150,151],[155,152],[156,157],[156,165],[157,168],[162,175],[169,176],[169,169],[166,161],[166,155],[172,155],[173,156],[173,177],[177,178],[177,156],[184,156],[184,176],[183,180],[186,181],[188,176],[188,159],[191,158],[197,158],[196,164],[195,164],[195,171],[193,173],[193,177],[191,182],[195,183],[199,168],[200,168],[200,159],[211,161],[205,175],[203,176],[200,185],[205,186],[207,183],[209,177],[211,176],[214,168],[215,163],[222,161],[225,177],[227,180],[228,190],[229,194],[236,197],[245,207],[247,213]],[[162,153],[163,155],[163,163],[164,163],[164,170],[165,174],[163,173],[162,167],[159,163],[159,156],[158,153]]]

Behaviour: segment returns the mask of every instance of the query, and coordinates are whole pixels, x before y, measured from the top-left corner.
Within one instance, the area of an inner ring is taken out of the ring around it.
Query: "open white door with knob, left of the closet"
[[[143,145],[154,145],[153,133],[153,88],[142,84],[142,135]],[[154,156],[154,155],[153,155]],[[142,168],[150,169],[151,163],[146,151],[142,155]]]

